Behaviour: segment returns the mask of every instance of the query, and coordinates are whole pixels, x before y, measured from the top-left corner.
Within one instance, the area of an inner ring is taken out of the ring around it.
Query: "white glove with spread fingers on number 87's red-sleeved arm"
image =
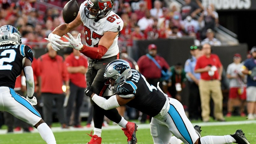
[[[67,39],[68,42],[60,42],[62,43],[62,46],[66,46],[66,47],[71,47],[74,48],[76,50],[80,50],[83,47],[83,44],[81,42],[81,33],[79,33],[77,35],[77,38],[75,39],[70,33],[68,33],[69,37],[66,37],[65,35],[63,36],[63,38]]]

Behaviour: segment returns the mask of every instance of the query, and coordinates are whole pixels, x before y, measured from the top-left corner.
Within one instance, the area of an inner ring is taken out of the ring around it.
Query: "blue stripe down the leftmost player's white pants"
[[[37,110],[31,105],[31,103],[29,103],[28,101],[26,101],[24,98],[22,98],[19,94],[17,94],[13,89],[10,89],[10,93],[12,95],[12,97],[19,102],[20,104],[22,104],[23,106],[25,106],[27,109],[29,109],[33,114],[41,117],[41,115],[37,112]]]

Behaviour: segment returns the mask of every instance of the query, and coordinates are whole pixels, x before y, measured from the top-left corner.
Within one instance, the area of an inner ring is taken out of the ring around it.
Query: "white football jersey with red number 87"
[[[97,47],[100,38],[106,31],[119,32],[123,29],[122,19],[111,11],[106,17],[95,22],[95,19],[89,19],[85,16],[84,7],[87,1],[83,2],[80,6],[80,18],[83,22],[86,46]],[[113,44],[109,47],[106,54],[102,58],[111,57],[119,53],[117,45],[118,35],[116,36]]]

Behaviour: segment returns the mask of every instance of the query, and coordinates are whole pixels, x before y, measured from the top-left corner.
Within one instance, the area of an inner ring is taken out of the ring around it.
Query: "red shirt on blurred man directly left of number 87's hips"
[[[70,54],[65,59],[66,66],[77,67],[84,66],[88,67],[87,59],[82,55],[78,59],[75,58],[74,54]],[[69,73],[70,81],[78,87],[86,88],[85,75],[83,73]]]

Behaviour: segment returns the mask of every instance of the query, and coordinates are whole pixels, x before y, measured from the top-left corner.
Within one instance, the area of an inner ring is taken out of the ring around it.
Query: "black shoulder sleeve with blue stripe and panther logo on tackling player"
[[[137,86],[132,81],[125,81],[117,87],[117,94],[122,98],[134,97]]]

